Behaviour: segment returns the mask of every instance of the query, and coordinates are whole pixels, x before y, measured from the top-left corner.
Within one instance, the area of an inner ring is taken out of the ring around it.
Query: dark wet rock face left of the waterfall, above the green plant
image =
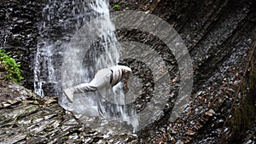
[[[21,64],[23,84],[32,89],[32,60],[37,47],[38,20],[42,1],[2,0],[0,2],[0,47],[11,51]]]

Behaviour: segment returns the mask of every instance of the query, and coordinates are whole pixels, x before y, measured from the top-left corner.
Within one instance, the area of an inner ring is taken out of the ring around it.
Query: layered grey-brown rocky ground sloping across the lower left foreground
[[[57,98],[40,98],[5,79],[0,65],[0,143],[137,143],[137,135],[107,135],[85,127]]]

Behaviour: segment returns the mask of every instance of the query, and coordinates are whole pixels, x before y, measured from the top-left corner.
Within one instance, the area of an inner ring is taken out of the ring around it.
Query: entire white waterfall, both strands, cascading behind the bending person
[[[107,118],[137,125],[137,120],[129,118],[125,112],[125,95],[119,84],[113,88],[111,98],[90,92],[75,95],[73,103],[70,103],[62,93],[62,89],[90,82],[99,69],[114,66],[119,61],[119,43],[110,20],[108,1],[49,0],[43,14],[45,19],[40,25],[42,38],[35,57],[35,92],[43,97],[45,94],[58,95],[60,105],[75,113],[94,117],[100,110],[106,113]],[[102,105],[109,103],[110,99],[111,107]],[[109,114],[113,109],[116,114]],[[136,111],[131,111],[132,116],[136,116]]]

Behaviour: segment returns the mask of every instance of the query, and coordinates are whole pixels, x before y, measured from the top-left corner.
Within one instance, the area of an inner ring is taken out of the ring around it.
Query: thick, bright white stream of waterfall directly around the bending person
[[[114,66],[119,60],[119,43],[113,32],[114,26],[110,20],[108,2],[97,0],[90,4],[90,8],[95,11],[95,15],[98,17],[91,23],[84,25],[66,46],[66,56],[64,56],[64,67],[62,68],[64,71],[62,76],[64,88],[90,82],[99,69]],[[91,53],[94,50],[95,52]],[[87,61],[85,66],[81,61]],[[84,78],[86,79],[81,81]],[[106,97],[109,98],[108,94],[113,94],[110,102],[109,99],[106,100]],[[105,118],[121,119],[127,121],[128,124],[137,125],[136,118],[127,115],[126,107],[124,107],[125,95],[121,89],[121,84],[114,86],[113,93],[108,94],[94,92],[75,95],[73,103],[67,102],[67,98],[62,96],[61,106],[73,112],[90,115],[97,115],[100,112]],[[98,102],[96,104],[91,101]],[[86,104],[85,107],[84,104]],[[121,106],[116,104],[121,104]],[[97,107],[95,107],[96,105]],[[132,116],[135,115],[136,111],[134,110]]]

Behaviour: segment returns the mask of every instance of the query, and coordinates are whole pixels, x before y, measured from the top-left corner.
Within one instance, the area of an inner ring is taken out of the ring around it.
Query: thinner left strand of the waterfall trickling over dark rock
[[[48,0],[38,24],[39,38],[34,58],[34,91],[38,95],[61,95],[61,45],[89,19],[81,0]]]

